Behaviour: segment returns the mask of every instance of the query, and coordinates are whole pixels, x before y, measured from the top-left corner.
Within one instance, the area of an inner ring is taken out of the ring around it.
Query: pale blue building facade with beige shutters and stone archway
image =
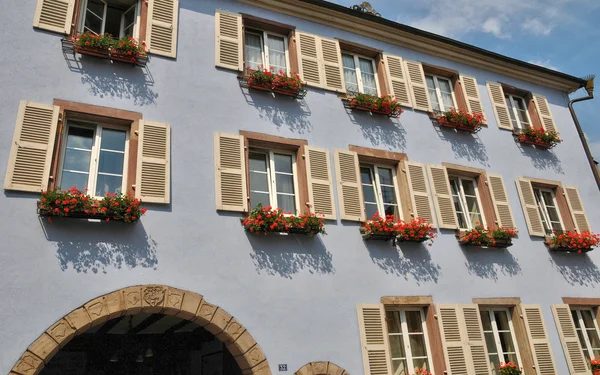
[[[584,80],[317,0],[22,0],[0,20],[1,373],[591,374],[600,258],[545,243],[600,230],[567,107]],[[263,67],[303,89],[257,88]],[[440,124],[451,108],[484,126]],[[43,209],[72,186],[148,211]],[[246,231],[258,203],[326,234]],[[437,237],[365,239],[376,212]],[[478,223],[519,234],[461,244]]]

